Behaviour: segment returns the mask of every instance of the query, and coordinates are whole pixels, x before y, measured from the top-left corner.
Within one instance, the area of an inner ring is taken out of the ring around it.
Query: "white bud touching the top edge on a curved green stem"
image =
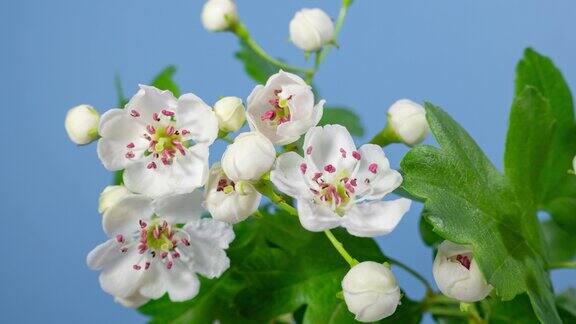
[[[232,0],[208,0],[202,8],[202,25],[208,31],[224,31],[237,20],[238,12]]]

